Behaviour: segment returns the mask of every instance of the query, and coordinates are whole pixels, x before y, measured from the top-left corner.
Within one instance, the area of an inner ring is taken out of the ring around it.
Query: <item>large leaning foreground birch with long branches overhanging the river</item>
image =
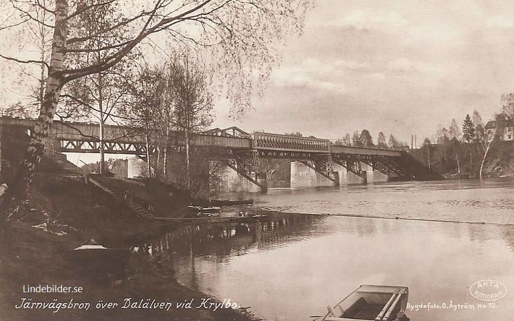
[[[2,230],[26,198],[66,83],[112,68],[137,46],[160,33],[174,46],[209,50],[213,57],[211,66],[228,82],[227,96],[233,105],[232,113],[238,115],[249,108],[252,93],[262,91],[272,65],[279,59],[277,41],[283,42],[291,31],[301,31],[304,14],[311,7],[310,0],[156,0],[135,3],[54,0],[48,5],[38,0],[8,1],[19,15],[13,16],[10,28],[4,28],[2,32],[15,32],[16,27],[23,28],[31,21],[44,24],[53,34],[49,64],[38,57],[23,57],[12,51],[0,53],[3,59],[47,67],[39,117],[2,204]],[[120,22],[108,26],[99,24],[96,32],[88,33],[81,17],[106,5],[112,5],[113,10],[120,13]],[[36,8],[50,13],[50,21],[39,20],[34,15]],[[99,39],[101,42],[119,28],[126,30],[124,37],[113,39],[114,42],[100,48],[87,47],[89,41]],[[75,67],[68,60],[71,52],[104,52],[105,55],[101,55],[100,61]]]

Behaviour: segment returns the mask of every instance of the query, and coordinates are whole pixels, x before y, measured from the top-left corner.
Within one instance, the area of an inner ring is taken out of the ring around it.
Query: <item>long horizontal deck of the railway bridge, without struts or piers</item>
[[[3,126],[33,128],[34,119],[0,117]],[[60,141],[61,150],[66,152],[98,152],[100,127],[96,123],[62,122],[54,120],[49,136]],[[157,133],[151,133],[153,137]],[[183,132],[173,132],[170,137],[174,146],[184,146]],[[106,125],[104,127],[105,150],[108,153],[144,154],[145,135],[140,129]],[[196,146],[216,146],[229,149],[255,150],[268,158],[276,152],[317,154],[346,154],[399,157],[400,151],[333,146],[328,139],[299,137],[281,134],[254,132],[252,138],[193,134],[191,142]]]

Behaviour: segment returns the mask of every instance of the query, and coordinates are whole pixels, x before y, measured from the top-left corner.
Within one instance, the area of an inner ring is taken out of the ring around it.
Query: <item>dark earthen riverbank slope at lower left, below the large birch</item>
[[[124,279],[100,280],[72,267],[72,249],[87,239],[122,247],[127,240],[158,233],[166,225],[120,210],[111,199],[86,187],[80,176],[57,169],[38,173],[21,220],[13,222],[2,238],[0,319],[253,320],[244,309],[210,305],[217,301],[181,286],[172,268],[155,258],[131,255]],[[60,285],[81,291],[25,291]],[[56,308],[70,302],[72,308]]]

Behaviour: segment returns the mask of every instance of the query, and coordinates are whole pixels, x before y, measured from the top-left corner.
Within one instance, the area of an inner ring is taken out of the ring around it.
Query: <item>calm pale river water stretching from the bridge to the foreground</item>
[[[360,284],[409,287],[406,314],[413,321],[514,320],[512,180],[230,196],[252,197],[271,209],[331,215],[179,227],[137,248],[172,265],[186,286],[251,307],[268,320],[313,319]],[[502,283],[504,297],[473,297],[470,287],[481,280]]]

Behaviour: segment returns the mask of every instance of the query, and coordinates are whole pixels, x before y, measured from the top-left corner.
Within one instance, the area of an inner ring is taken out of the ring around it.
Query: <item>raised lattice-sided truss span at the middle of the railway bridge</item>
[[[330,140],[315,137],[254,132],[252,148],[256,150],[329,153]]]

